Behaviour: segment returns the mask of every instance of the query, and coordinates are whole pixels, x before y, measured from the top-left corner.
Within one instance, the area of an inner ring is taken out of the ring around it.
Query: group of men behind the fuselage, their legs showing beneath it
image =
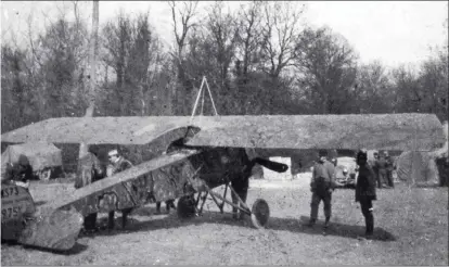
[[[117,150],[112,150],[107,153],[108,164],[104,170],[101,161],[98,155],[93,152],[88,153],[85,157],[80,158],[78,164],[77,178],[75,180],[75,188],[81,188],[89,183],[95,182],[106,177],[111,177],[115,174],[124,171],[125,169],[131,168],[133,165],[130,161],[126,160],[118,153]],[[169,200],[166,202],[166,209],[169,213],[170,208],[176,208],[174,201]],[[125,228],[128,215],[132,212],[132,207],[121,209],[121,227]],[[156,214],[161,213],[161,202],[156,202]],[[98,214],[89,214],[85,217],[85,231],[88,233],[95,232],[99,230],[97,227]],[[115,228],[115,211],[108,213],[107,228],[110,230]]]

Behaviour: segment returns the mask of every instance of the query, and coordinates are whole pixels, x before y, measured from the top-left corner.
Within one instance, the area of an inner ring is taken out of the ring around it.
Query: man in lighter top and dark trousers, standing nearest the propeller
[[[319,161],[313,166],[312,178],[310,182],[310,191],[312,192],[311,199],[311,213],[309,227],[312,227],[317,223],[318,207],[320,202],[324,203],[324,229],[328,229],[329,221],[332,215],[332,192],[335,189],[334,165],[326,160],[328,152],[320,150]]]

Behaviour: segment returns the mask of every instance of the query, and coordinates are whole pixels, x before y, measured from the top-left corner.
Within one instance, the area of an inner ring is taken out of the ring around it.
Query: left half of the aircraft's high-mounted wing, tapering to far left
[[[2,142],[146,144],[157,138],[185,135],[189,117],[60,117],[49,118],[1,136]]]

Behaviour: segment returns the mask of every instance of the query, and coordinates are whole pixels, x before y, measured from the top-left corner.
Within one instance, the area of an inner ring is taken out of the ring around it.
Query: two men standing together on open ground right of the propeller
[[[308,226],[313,227],[318,217],[318,207],[321,201],[324,203],[324,232],[329,228],[332,215],[332,193],[335,190],[335,165],[328,161],[326,151],[319,152],[319,161],[313,166],[310,182],[311,212]],[[365,237],[371,238],[374,231],[373,201],[376,200],[376,174],[368,162],[368,152],[362,149],[356,155],[359,177],[356,183],[356,202],[360,203],[361,212],[365,220]]]

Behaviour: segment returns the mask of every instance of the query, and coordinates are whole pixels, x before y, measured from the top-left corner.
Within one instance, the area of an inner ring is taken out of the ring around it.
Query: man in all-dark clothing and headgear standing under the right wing
[[[361,211],[365,221],[365,236],[372,237],[374,231],[373,201],[376,200],[375,174],[368,163],[367,150],[357,153],[357,165],[359,165],[359,178],[356,185],[356,202],[360,202]]]

